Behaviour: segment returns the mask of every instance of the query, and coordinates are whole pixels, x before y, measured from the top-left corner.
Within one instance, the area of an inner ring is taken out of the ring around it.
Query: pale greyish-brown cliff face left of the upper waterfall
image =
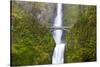
[[[54,20],[56,4],[41,2],[16,1],[16,3],[26,12],[31,14],[38,23],[43,26],[50,26]]]

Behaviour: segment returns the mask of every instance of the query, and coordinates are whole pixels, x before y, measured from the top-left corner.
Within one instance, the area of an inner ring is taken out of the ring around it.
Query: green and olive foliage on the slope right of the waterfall
[[[96,61],[96,8],[80,6],[79,9],[79,21],[66,36],[65,62]]]

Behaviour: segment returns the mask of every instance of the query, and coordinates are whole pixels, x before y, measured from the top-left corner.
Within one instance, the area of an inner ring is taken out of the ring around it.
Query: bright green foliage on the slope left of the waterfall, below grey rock
[[[50,64],[54,41],[50,31],[16,2],[12,3],[13,66]]]

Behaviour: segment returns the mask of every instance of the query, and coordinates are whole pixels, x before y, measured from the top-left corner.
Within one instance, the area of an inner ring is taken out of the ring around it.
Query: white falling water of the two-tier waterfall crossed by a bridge
[[[53,27],[62,27],[62,4],[58,3],[57,5],[57,15],[55,17],[55,21]],[[62,43],[62,34],[63,30],[55,29],[53,31],[53,38],[56,42],[56,46],[54,48],[53,56],[52,56],[52,64],[63,64],[64,63],[64,48],[65,43]]]

